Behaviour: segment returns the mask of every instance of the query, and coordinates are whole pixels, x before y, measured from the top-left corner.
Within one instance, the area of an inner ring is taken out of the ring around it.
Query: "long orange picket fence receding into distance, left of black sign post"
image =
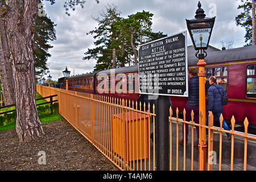
[[[153,169],[149,105],[40,85],[37,91],[58,94],[59,113],[119,169]]]

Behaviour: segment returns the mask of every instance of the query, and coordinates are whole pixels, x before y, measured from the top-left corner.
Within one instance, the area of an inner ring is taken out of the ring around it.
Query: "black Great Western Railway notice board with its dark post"
[[[169,169],[170,96],[188,97],[187,31],[139,47],[139,89],[156,99],[156,170]]]

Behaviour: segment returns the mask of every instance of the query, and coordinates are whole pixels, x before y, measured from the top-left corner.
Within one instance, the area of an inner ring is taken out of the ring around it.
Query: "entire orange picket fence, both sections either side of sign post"
[[[77,131],[79,131],[86,139],[88,139],[99,151],[102,152],[111,162],[121,170],[155,170],[155,108],[153,113],[150,113],[150,105],[142,105],[141,103],[120,100],[113,97],[103,97],[93,94],[72,92],[57,88],[49,88],[47,86],[37,85],[37,92],[43,97],[57,94],[59,102],[59,113]],[[185,112],[185,111],[184,111]],[[176,115],[179,111],[176,110]],[[170,109],[170,115],[172,110]],[[193,115],[193,112],[192,112]],[[193,118],[193,117],[192,117]],[[201,119],[201,118],[200,118]],[[223,119],[221,118],[221,125]],[[176,130],[173,129],[176,123]],[[188,124],[192,131],[192,147],[190,158],[186,154],[186,146],[183,147],[183,170],[194,170],[195,163],[198,164],[198,159],[194,159],[193,136],[194,126],[199,126],[201,129],[209,130],[208,135],[208,170],[212,170],[213,150],[213,131],[217,131],[220,135],[220,157],[218,159],[219,170],[221,170],[222,162],[222,133],[230,133],[232,135],[230,147],[231,153],[234,153],[234,135],[239,135],[244,138],[244,160],[243,169],[246,170],[247,163],[247,139],[255,140],[256,137],[247,134],[248,121],[245,119],[245,133],[234,131],[234,118],[232,118],[232,131],[223,130],[213,126],[213,115],[209,115],[209,127],[199,125],[193,122],[187,122],[179,118],[170,117],[170,170],[179,170],[182,150],[179,150],[179,130],[182,127],[179,124]],[[175,131],[174,131],[175,130]],[[185,130],[184,130],[185,131]],[[200,130],[201,131],[201,130]],[[182,132],[182,131],[181,131]],[[152,140],[150,134],[153,133]],[[185,134],[185,132],[184,132]],[[172,136],[176,135],[176,139]],[[176,155],[175,150],[176,148]],[[202,148],[199,148],[202,150]],[[175,162],[176,160],[176,162]],[[191,168],[188,169],[186,162],[191,163]],[[176,167],[175,164],[176,163]],[[233,155],[230,158],[230,170],[233,170]]]

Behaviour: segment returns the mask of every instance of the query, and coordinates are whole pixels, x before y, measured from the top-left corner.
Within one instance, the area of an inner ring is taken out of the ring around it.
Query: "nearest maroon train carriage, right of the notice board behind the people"
[[[189,68],[198,68],[197,62],[195,55],[188,55]],[[256,46],[209,52],[205,62],[205,76],[208,80],[216,76],[217,84],[224,87],[229,99],[223,117],[230,120],[234,115],[240,122],[247,117],[250,124],[256,125]],[[185,98],[171,97],[171,101],[179,110],[186,104]]]

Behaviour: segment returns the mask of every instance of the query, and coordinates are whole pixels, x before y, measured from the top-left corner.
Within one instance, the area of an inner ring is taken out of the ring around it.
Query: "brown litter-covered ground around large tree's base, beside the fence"
[[[119,170],[65,119],[43,129],[43,138],[26,143],[18,142],[15,129],[1,131],[0,170]]]

